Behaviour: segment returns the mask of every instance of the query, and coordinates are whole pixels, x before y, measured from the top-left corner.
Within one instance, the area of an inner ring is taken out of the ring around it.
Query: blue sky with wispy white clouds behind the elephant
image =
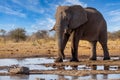
[[[59,5],[94,7],[105,17],[108,31],[120,30],[120,0],[0,0],[0,29],[21,27],[28,34],[49,30]]]

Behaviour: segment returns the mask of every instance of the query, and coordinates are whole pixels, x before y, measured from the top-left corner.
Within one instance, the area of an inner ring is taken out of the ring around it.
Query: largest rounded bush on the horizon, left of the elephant
[[[26,31],[23,28],[16,28],[14,30],[11,30],[9,32],[9,37],[13,40],[15,40],[15,42],[19,42],[19,41],[24,41],[26,40]]]

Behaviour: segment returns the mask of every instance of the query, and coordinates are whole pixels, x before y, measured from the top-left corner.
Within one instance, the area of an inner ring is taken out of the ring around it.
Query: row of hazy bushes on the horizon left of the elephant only
[[[50,39],[52,38],[49,35],[49,31],[47,30],[38,30],[37,32],[32,33],[31,35],[27,35],[27,32],[23,28],[16,28],[9,32],[6,32],[4,29],[0,29],[0,39],[3,38],[4,41],[11,40],[14,42],[20,41],[35,41],[38,39]]]

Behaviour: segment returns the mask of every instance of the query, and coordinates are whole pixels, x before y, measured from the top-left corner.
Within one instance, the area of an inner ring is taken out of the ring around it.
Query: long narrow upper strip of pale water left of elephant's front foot
[[[0,66],[53,63],[53,58],[0,59]]]

